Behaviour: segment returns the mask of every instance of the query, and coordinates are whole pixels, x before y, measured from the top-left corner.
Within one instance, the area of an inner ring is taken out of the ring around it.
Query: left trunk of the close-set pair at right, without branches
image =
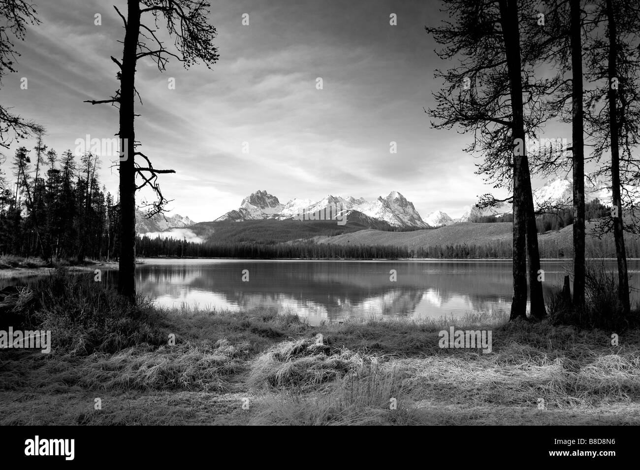
[[[500,0],[500,24],[511,88],[513,138],[513,300],[510,320],[527,318],[527,204],[524,181],[524,109],[520,77],[520,38],[515,0]]]

